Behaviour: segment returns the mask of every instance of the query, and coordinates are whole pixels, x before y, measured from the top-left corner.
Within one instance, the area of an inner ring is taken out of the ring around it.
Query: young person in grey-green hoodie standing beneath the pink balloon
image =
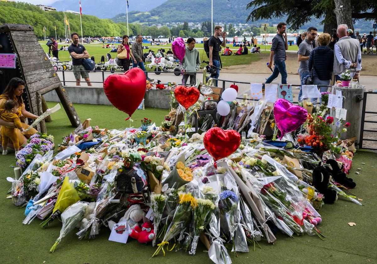
[[[195,72],[200,68],[200,57],[199,51],[195,49],[195,39],[189,38],[187,40],[187,47],[185,52],[185,57],[182,60],[181,70],[183,73],[182,83],[186,84],[187,79],[190,76],[190,85],[196,83]]]

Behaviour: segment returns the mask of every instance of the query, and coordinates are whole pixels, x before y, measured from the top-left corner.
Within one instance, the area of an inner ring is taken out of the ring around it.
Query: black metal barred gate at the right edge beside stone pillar
[[[370,90],[369,90],[370,91]],[[368,101],[369,95],[369,104]],[[373,98],[372,98],[373,97]],[[360,149],[377,150],[377,112],[366,111],[375,110],[375,102],[377,101],[377,91],[374,92],[364,92],[363,97],[363,112],[361,116],[361,127],[360,127]],[[368,109],[367,109],[368,106]],[[365,115],[368,115],[365,120]]]

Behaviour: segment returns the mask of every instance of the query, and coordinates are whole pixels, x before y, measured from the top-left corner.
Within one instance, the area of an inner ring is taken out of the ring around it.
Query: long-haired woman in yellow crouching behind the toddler
[[[19,109],[21,110],[21,114],[23,117],[32,118],[32,119],[38,118],[37,115],[34,115],[26,111],[25,109],[25,104],[23,103],[23,100],[22,100],[22,93],[24,89],[25,89],[25,82],[21,80],[20,78],[12,78],[9,81],[8,85],[3,91],[3,94],[0,95],[0,114],[6,111],[4,107],[6,100],[13,99],[18,103]],[[26,129],[29,127],[28,124],[25,124],[23,122],[21,122],[21,124],[22,124],[23,129]],[[0,119],[0,130],[2,126],[15,127],[14,123],[6,122]],[[37,132],[38,132],[37,130],[35,130],[34,128],[31,128],[30,130],[28,130],[28,132],[25,132],[22,134],[19,129],[16,129],[16,134],[17,134],[18,142],[20,143],[20,146],[26,144],[27,139],[30,138],[31,135],[34,135]],[[8,142],[8,147],[13,148],[12,142]]]

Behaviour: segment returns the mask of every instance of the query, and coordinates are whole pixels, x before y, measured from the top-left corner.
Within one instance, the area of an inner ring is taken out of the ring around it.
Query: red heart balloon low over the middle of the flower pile
[[[205,149],[216,161],[236,151],[241,144],[241,135],[233,129],[222,130],[220,127],[212,127],[205,132],[203,143]]]

